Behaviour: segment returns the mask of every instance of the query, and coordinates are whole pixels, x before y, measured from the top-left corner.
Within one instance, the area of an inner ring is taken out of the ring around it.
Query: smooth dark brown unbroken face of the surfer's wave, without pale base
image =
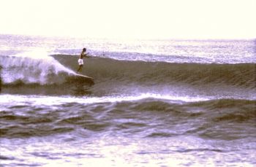
[[[77,57],[53,55],[56,60],[75,69]],[[96,80],[118,80],[159,85],[184,83],[188,85],[232,85],[255,88],[255,63],[208,64],[167,63],[148,61],[118,61],[111,58],[86,59],[86,74]]]

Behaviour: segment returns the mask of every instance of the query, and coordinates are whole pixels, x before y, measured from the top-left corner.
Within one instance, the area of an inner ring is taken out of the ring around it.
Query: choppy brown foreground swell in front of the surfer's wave
[[[143,133],[146,137],[193,134],[229,140],[255,136],[252,133],[255,130],[252,127],[256,119],[255,101],[219,99],[177,103],[141,98],[116,103],[95,102],[90,98],[74,101],[67,98],[61,101],[58,98],[53,102],[53,99],[47,98],[49,103],[45,103],[44,98],[38,97],[20,99],[22,101],[18,104],[3,103],[2,107],[6,109],[0,113],[1,137],[50,136],[77,131],[78,128],[94,132],[109,129],[125,132],[129,129],[135,133],[151,128],[148,133]],[[9,100],[13,101],[13,98]],[[90,104],[87,101],[94,102]],[[53,104],[56,109],[53,109]],[[20,115],[20,112],[26,114]],[[152,126],[152,119],[154,123],[161,124],[161,128]],[[177,130],[177,125],[184,128]],[[48,131],[45,131],[45,126]]]

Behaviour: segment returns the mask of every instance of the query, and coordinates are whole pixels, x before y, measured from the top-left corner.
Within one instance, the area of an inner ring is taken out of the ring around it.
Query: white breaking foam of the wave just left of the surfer
[[[41,85],[54,82],[54,76],[60,72],[75,74],[74,71],[61,65],[45,50],[31,50],[16,55],[0,56],[2,81],[12,83],[20,80],[25,83]],[[50,78],[50,80],[49,80]]]

